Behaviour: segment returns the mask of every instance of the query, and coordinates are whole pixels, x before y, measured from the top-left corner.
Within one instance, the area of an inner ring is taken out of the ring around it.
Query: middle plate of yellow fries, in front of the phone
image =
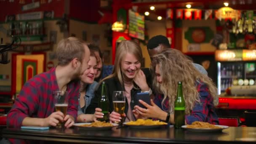
[[[130,128],[160,128],[163,126],[166,126],[167,123],[161,122],[159,120],[143,120],[143,119],[138,119],[136,121],[130,121],[130,122],[125,122],[123,123],[125,126],[128,126]]]

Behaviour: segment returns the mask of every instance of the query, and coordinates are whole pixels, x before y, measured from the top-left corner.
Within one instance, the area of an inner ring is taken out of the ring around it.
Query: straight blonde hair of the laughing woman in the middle
[[[136,59],[138,59],[138,61],[141,63],[143,57],[142,57],[141,47],[139,46],[139,44],[134,42],[133,40],[123,40],[118,45],[118,48],[115,54],[115,65],[114,65],[112,74],[109,75],[108,77],[105,77],[103,80],[101,80],[101,82],[111,77],[117,77],[119,82],[123,85],[124,81],[123,81],[123,73],[121,71],[121,67],[122,67],[121,64],[122,64],[123,58],[127,53],[133,54],[136,57]]]

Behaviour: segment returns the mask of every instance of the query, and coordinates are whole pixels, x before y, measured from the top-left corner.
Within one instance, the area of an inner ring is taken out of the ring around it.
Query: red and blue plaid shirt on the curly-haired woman
[[[205,83],[197,83],[197,91],[200,95],[200,103],[195,103],[195,107],[190,112],[190,115],[185,116],[187,124],[191,124],[195,121],[208,122],[211,124],[218,125],[219,120],[215,112],[213,105],[213,97],[209,93],[208,87]],[[163,111],[168,111],[169,101],[165,99],[163,102],[163,95],[156,95],[154,102]]]

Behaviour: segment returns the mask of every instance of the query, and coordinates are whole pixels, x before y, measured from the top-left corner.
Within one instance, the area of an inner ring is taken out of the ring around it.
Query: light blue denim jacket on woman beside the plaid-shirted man
[[[93,99],[94,95],[94,91],[95,91],[95,87],[98,85],[98,83],[96,81],[94,81],[92,84],[88,85],[86,88],[86,93],[84,96],[85,99],[85,109],[91,104],[91,99]],[[80,98],[80,93],[79,93],[79,98]],[[84,112],[82,111],[80,104],[78,104],[78,110],[77,110],[77,115],[81,115],[81,114],[85,114],[85,110]]]

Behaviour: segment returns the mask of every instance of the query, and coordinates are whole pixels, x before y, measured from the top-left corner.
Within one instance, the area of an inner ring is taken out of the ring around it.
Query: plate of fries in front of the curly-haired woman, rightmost
[[[229,126],[195,121],[191,125],[182,125],[181,128],[193,132],[222,132],[223,129],[229,128]]]

